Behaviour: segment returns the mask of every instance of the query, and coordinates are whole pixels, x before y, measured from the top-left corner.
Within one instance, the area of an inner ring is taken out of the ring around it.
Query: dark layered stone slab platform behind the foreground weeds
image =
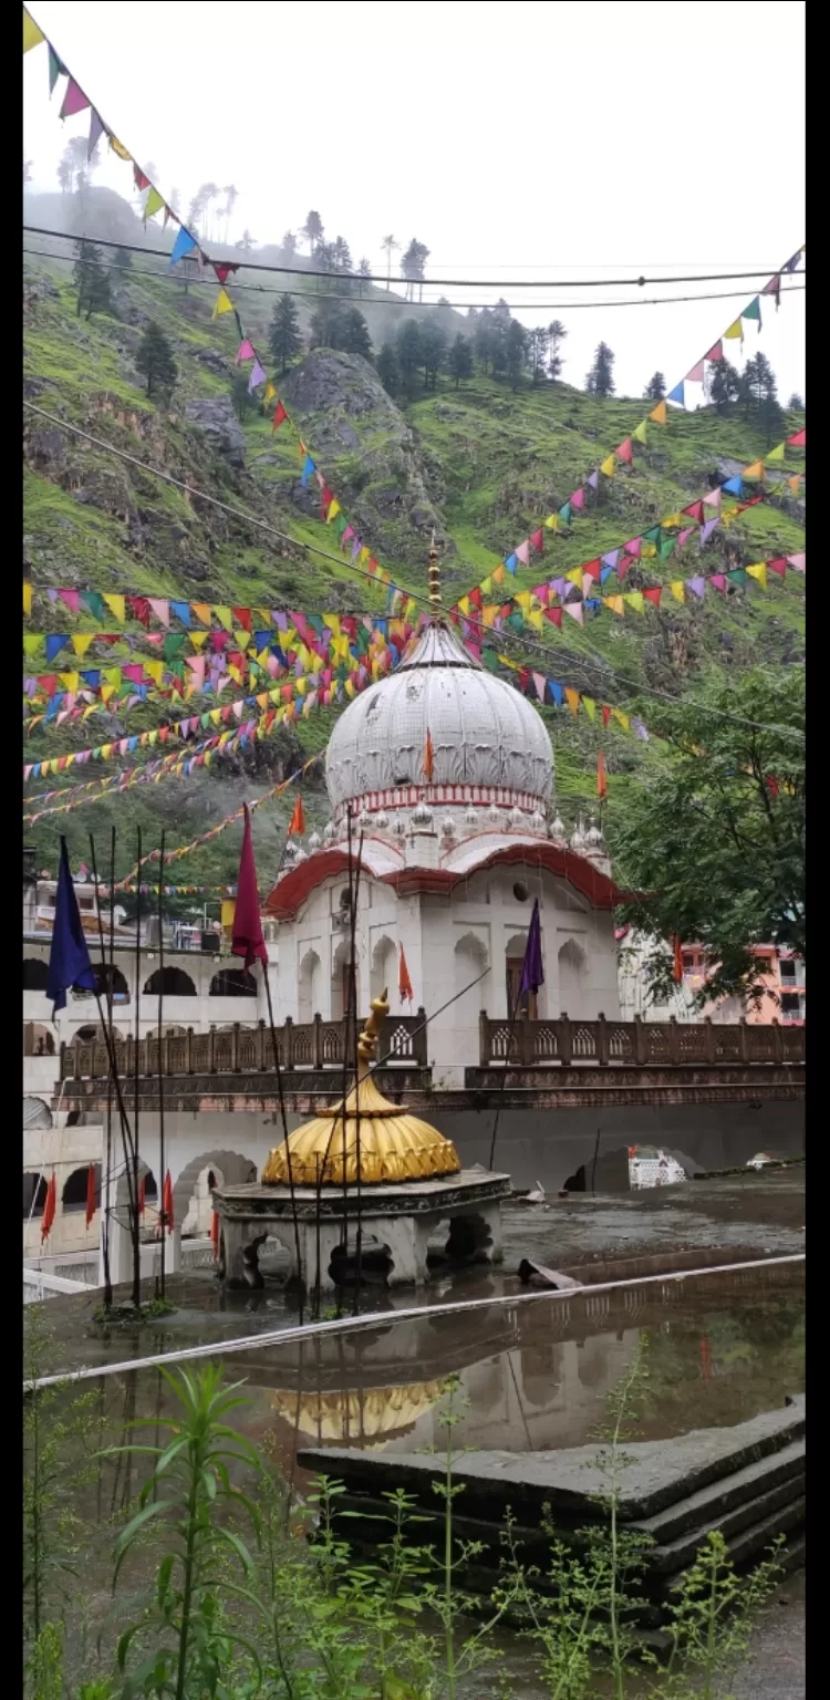
[[[804,1528],[804,1396],[784,1409],[765,1411],[733,1428],[701,1428],[674,1440],[626,1442],[619,1476],[619,1515],[626,1527],[653,1540],[646,1593],[665,1598],[677,1576],[713,1528],[721,1530],[735,1564],[757,1562],[782,1533],[782,1566],[801,1562]],[[607,1518],[597,1494],[607,1494],[597,1469],[597,1447],[565,1452],[464,1452],[452,1465],[464,1484],[454,1511],[456,1535],[480,1540],[483,1586],[500,1561],[500,1528],[510,1510],[527,1562],[546,1569],[549,1538],[544,1506],[556,1535],[580,1547],[583,1532]],[[388,1457],[355,1448],[316,1447],[298,1454],[303,1469],[345,1482],[344,1510],[359,1511],[361,1542],[379,1535],[388,1501],[398,1488],[413,1496],[420,1513],[437,1516],[432,1484],[446,1464],[435,1457],[395,1452]],[[376,1522],[378,1520],[378,1522]],[[437,1527],[437,1523],[435,1523]],[[432,1538],[425,1535],[424,1538]]]

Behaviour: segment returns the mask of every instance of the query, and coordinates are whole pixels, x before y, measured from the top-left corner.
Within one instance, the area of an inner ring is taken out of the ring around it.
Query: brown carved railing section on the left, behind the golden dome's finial
[[[378,1059],[386,1068],[408,1064],[408,1068],[427,1068],[427,1028],[425,1012],[417,1015],[391,1015],[379,1032]],[[362,1027],[362,1022],[361,1022]],[[162,1056],[158,1047],[162,1046]],[[286,1020],[277,1027],[279,1066],[294,1069],[347,1068],[354,1064],[355,1030],[352,1022],[323,1022],[315,1015],[313,1022]],[[243,1027],[242,1022],[228,1032],[194,1034],[192,1027],[185,1034],[170,1034],[162,1040],[155,1034],[138,1040],[133,1035],[126,1042],[116,1042],[116,1066],[128,1080],[134,1074],[257,1074],[274,1071],[274,1040],[270,1027],[260,1022],[257,1027]],[[102,1040],[85,1044],[61,1044],[60,1078],[61,1080],[107,1080],[109,1059]]]

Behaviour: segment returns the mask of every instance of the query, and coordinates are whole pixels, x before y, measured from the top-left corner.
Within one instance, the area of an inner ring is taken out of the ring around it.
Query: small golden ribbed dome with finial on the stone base
[[[378,1028],[389,1013],[386,993],[372,1000],[372,1013],[357,1044],[357,1085],[335,1108],[289,1134],[294,1185],[344,1185],[357,1182],[357,1141],[361,1142],[361,1182],[430,1180],[458,1175],[461,1163],[451,1139],[444,1139],[429,1122],[406,1115],[378,1091],[369,1076]],[[344,1173],[345,1170],[345,1173]],[[264,1183],[287,1185],[286,1142],[274,1146],[262,1170]]]

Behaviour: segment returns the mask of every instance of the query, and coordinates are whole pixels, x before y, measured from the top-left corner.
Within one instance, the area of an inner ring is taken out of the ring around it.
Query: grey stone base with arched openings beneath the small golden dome
[[[306,1285],[337,1287],[332,1263],[347,1229],[354,1255],[357,1217],[362,1255],[386,1260],[389,1287],[420,1285],[429,1280],[427,1246],[439,1224],[447,1222],[447,1256],[466,1263],[502,1261],[502,1198],[510,1193],[510,1176],[461,1170],[447,1180],[418,1180],[361,1188],[296,1187],[299,1255]],[[218,1187],[213,1205],[219,1216],[219,1275],[230,1287],[262,1287],[257,1266],[265,1239],[277,1239],[296,1268],[296,1239],[287,1187],[252,1182]],[[320,1222],[318,1222],[320,1209]],[[320,1250],[318,1250],[320,1248]]]

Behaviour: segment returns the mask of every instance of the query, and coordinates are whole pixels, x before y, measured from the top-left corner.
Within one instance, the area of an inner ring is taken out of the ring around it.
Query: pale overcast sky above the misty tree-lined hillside
[[[641,394],[655,367],[672,386],[804,241],[801,0],[34,0],[32,15],[162,192],[187,209],[202,182],[236,185],[231,240],[248,226],[279,241],[316,207],[378,272],[389,231],[427,243],[427,277],[759,270],[641,292],[735,291],[694,304],[602,306],[638,294],[611,282],[435,291],[505,294],[526,325],[561,318],[575,384],[604,338],[619,394]],[[88,129],[88,114],[61,122],[60,100],[36,48],[36,189],[56,189],[68,136]],[[99,155],[95,182],[129,199],[129,167]],[[803,337],[803,292],[764,304],[760,338],[748,330],[745,355],[764,348],[784,401],[804,393]]]

